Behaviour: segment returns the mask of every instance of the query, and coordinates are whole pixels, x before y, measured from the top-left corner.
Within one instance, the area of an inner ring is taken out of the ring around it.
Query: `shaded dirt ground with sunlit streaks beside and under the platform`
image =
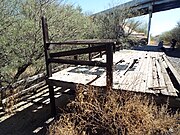
[[[56,105],[59,108],[65,106],[68,95],[61,95],[56,98]],[[44,135],[48,130],[48,126],[53,122],[54,118],[50,114],[50,105],[42,105],[47,97],[37,103],[30,103],[30,106],[22,111],[17,111],[14,115],[6,115],[0,117],[0,135]],[[57,110],[59,110],[57,108]]]

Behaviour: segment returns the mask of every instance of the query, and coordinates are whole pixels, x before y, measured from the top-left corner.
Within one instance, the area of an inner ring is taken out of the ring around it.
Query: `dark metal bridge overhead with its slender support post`
[[[148,34],[147,34],[147,39],[149,43],[152,14],[156,12],[179,8],[179,7],[180,7],[180,0],[132,0],[130,2],[96,13],[93,16],[113,13],[114,10],[118,10],[119,12],[121,12],[124,9],[130,9],[130,8],[133,9],[133,11],[137,11],[138,14],[132,14],[129,17],[136,17],[136,16],[149,14],[149,24],[148,24]]]

